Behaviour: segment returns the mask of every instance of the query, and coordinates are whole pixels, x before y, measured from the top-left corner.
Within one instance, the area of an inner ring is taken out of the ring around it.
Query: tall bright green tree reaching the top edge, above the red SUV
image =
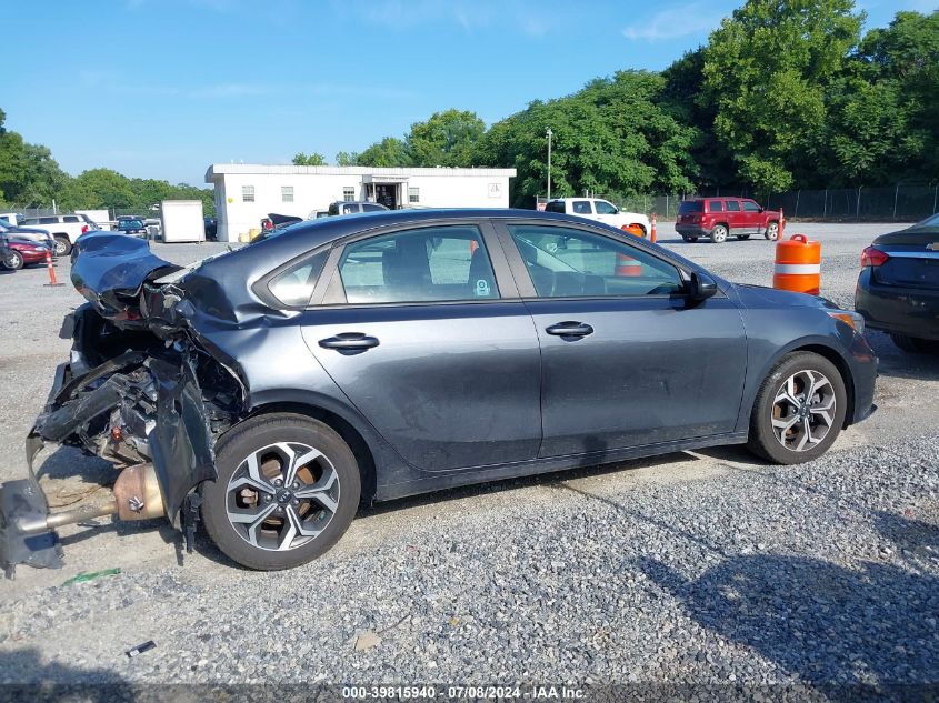
[[[747,0],[711,33],[699,100],[745,182],[768,192],[813,178],[805,154],[862,21],[852,0]]]

